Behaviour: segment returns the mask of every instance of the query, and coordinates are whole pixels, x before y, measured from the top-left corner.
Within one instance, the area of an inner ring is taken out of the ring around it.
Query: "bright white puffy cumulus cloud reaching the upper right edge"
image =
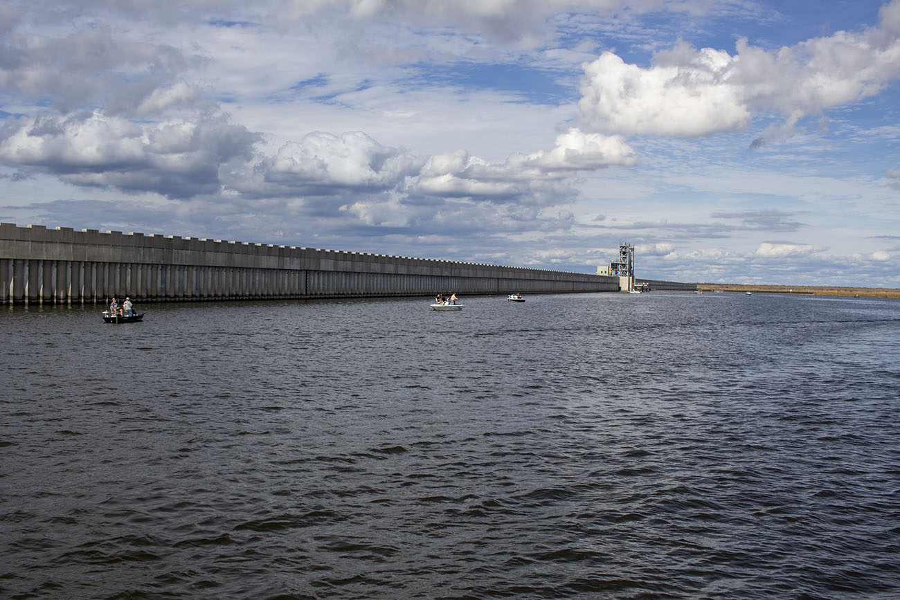
[[[734,56],[680,44],[650,67],[604,52],[586,65],[579,108],[604,132],[702,136],[779,112],[788,130],[808,115],[878,94],[900,77],[900,0],[877,27],[837,31],[770,51],[739,40]],[[775,130],[773,130],[775,132]]]

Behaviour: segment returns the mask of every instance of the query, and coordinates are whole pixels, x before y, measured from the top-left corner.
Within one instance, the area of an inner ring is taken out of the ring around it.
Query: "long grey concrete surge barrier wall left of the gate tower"
[[[618,291],[618,278],[496,264],[0,223],[0,303]]]

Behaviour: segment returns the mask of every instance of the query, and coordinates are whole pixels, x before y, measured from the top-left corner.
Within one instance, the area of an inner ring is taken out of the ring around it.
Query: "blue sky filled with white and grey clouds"
[[[0,221],[900,288],[900,0],[4,0]]]

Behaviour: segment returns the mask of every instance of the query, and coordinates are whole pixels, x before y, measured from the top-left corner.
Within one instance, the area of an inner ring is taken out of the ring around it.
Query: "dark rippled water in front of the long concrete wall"
[[[897,598],[900,302],[0,313],[0,596]]]

